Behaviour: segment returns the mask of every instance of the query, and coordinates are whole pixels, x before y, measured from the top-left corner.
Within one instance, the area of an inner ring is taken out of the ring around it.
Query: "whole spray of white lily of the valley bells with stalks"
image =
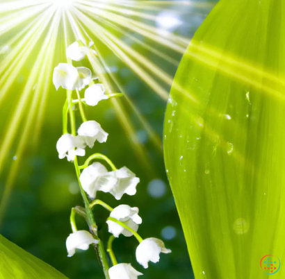
[[[74,42],[67,48],[67,58],[71,60],[79,61],[86,57],[86,55],[96,55],[97,53],[91,49],[94,43],[90,42],[88,46],[83,42]],[[97,191],[110,193],[116,200],[120,200],[124,194],[130,196],[136,194],[136,186],[140,182],[140,179],[136,177],[136,174],[128,169],[122,167],[117,169],[115,165],[106,158],[105,155],[95,153],[86,160],[85,164],[79,166],[76,160],[76,156],[84,156],[86,154],[86,147],[93,148],[95,142],[106,142],[108,133],[106,133],[94,120],[87,121],[83,117],[83,123],[79,129],[75,130],[74,124],[74,111],[72,105],[81,103],[79,109],[83,110],[83,105],[97,105],[99,101],[106,100],[114,96],[114,94],[106,94],[104,85],[101,83],[95,83],[94,80],[99,78],[92,78],[92,72],[86,67],[74,67],[71,62],[60,63],[58,67],[54,69],[53,81],[56,90],[61,86],[67,90],[67,106],[65,106],[66,113],[70,113],[72,133],[67,133],[67,126],[64,127],[65,133],[59,138],[56,149],[58,151],[58,157],[60,159],[67,158],[68,161],[74,161],[77,174],[79,176],[79,185],[81,187],[81,194],[83,195],[86,203],[86,208],[77,212],[75,208],[72,209],[72,215],[70,217],[73,233],[67,237],[66,246],[68,256],[74,255],[76,249],[87,250],[90,244],[100,246],[101,242],[97,236],[97,226],[94,221],[91,208],[92,206],[99,204],[109,210],[110,217],[107,219],[108,231],[111,233],[111,237],[108,242],[107,251],[110,253],[113,267],[108,269],[108,273],[105,273],[106,278],[110,279],[137,279],[142,273],[136,271],[131,267],[131,264],[117,264],[115,255],[113,254],[111,244],[115,237],[124,235],[125,237],[135,236],[140,244],[136,249],[136,259],[142,265],[147,268],[148,262],[158,262],[160,253],[170,253],[171,251],[165,248],[165,245],[160,239],[147,238],[142,239],[138,235],[138,226],[142,223],[142,219],[138,215],[138,208],[131,208],[129,205],[119,205],[116,208],[111,208],[103,201],[97,200]],[[84,99],[80,97],[80,91],[88,86],[85,90]],[[72,99],[72,90],[76,90],[78,100]],[[81,111],[81,116],[84,112]],[[72,121],[73,119],[73,121]],[[67,119],[64,119],[64,124],[67,124]],[[105,160],[105,162],[111,167],[111,171],[101,164],[100,162],[90,162],[95,159]],[[82,169],[82,171],[80,171]],[[86,230],[77,230],[74,220],[74,214],[80,213],[88,221],[90,227],[90,233]],[[113,237],[113,238],[112,238]],[[100,246],[101,248],[102,246]],[[102,248],[101,248],[102,249]],[[100,250],[101,254],[104,254],[104,250]],[[103,261],[104,264],[104,261]],[[108,265],[108,262],[105,263]],[[106,268],[106,267],[105,267]]]

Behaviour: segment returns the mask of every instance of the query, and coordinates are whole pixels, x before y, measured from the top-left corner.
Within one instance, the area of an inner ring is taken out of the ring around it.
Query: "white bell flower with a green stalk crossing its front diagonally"
[[[138,216],[138,208],[131,208],[129,205],[119,205],[114,208],[110,214],[110,217],[117,219],[125,223],[134,231],[138,231],[138,225],[142,223],[142,219]],[[131,237],[133,234],[111,220],[107,221],[109,233],[113,233],[114,237],[119,237],[122,233],[125,237]]]

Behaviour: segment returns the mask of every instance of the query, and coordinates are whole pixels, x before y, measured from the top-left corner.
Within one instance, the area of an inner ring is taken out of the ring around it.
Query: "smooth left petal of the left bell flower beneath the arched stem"
[[[84,191],[90,196],[90,198],[95,198],[96,192],[99,190],[99,178],[101,174],[108,173],[106,167],[99,162],[94,162],[86,169],[83,169],[80,175],[80,182]]]

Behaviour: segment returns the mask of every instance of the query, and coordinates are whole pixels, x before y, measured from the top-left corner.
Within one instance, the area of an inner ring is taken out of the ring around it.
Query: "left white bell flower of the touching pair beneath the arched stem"
[[[99,162],[94,162],[83,169],[79,179],[90,198],[95,198],[97,191],[109,192],[117,183],[115,174],[108,172],[106,167]]]

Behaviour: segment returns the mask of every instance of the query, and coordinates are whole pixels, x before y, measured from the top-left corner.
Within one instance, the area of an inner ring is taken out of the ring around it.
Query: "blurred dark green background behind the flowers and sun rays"
[[[206,2],[209,3],[209,1],[196,1],[195,3]],[[173,4],[173,6],[168,5],[167,8],[155,10],[153,15],[159,16],[161,12],[165,11],[168,14],[173,14],[179,19],[180,23],[170,31],[190,40],[190,37],[193,36],[193,33],[195,33],[210,10],[211,6],[199,8],[191,5],[186,7]],[[149,24],[147,19],[140,19],[140,21]],[[157,26],[159,22],[154,22],[154,24]],[[163,26],[158,27],[163,28]],[[6,42],[19,33],[21,28],[22,26],[18,26],[1,35],[0,48],[5,47]],[[174,60],[179,61],[181,59],[181,53],[174,53],[167,47],[161,47],[142,35],[138,35],[138,33],[132,33],[131,35]],[[62,40],[63,34],[60,34],[58,44]],[[158,58],[156,54],[142,49],[129,37],[122,36],[120,40],[126,42],[158,67],[161,67],[163,71],[174,77],[177,65],[165,62],[162,58]],[[100,47],[99,42],[95,42],[95,44]],[[40,46],[38,46],[39,49]],[[8,55],[8,51],[1,51],[0,63]],[[6,97],[5,103],[1,103],[0,142],[3,141],[5,136],[4,131],[9,129],[9,116],[15,110],[15,103],[19,100],[23,87],[28,81],[35,53],[36,51],[27,60],[19,74],[15,76],[13,87]],[[64,58],[60,53],[60,51],[56,53],[55,66],[58,62],[63,62]],[[154,94],[143,81],[140,81],[140,78],[133,74],[133,71],[124,65],[112,51],[104,51],[104,60],[120,81],[133,105],[158,133],[162,141],[166,102]],[[78,65],[86,66],[86,61],[82,61]],[[161,86],[165,87],[168,92],[170,91],[169,85]],[[130,123],[136,130],[136,137],[145,150],[147,164],[138,158],[137,153],[130,144],[130,135],[125,133],[122,128],[110,101],[101,101],[95,108],[87,108],[88,119],[95,119],[109,133],[108,141],[105,144],[96,143],[92,151],[108,155],[117,167],[127,166],[140,178],[136,196],[124,195],[121,201],[115,201],[115,198],[110,194],[99,192],[98,198],[112,207],[122,203],[137,206],[143,220],[138,233],[142,237],[163,239],[165,246],[170,248],[172,253],[170,255],[161,255],[161,261],[158,264],[150,264],[149,269],[144,270],[136,262],[136,239],[121,236],[113,244],[117,260],[118,262],[130,262],[138,271],[144,273],[143,278],[193,278],[181,223],[165,174],[163,151],[152,144],[147,131],[142,127],[127,101],[124,98],[120,100],[129,116]],[[68,278],[103,278],[95,251],[92,248],[88,251],[77,251],[71,258],[67,257],[65,248],[65,239],[71,233],[70,210],[76,205],[83,205],[83,201],[79,194],[73,164],[67,162],[67,160],[59,160],[56,151],[56,142],[62,133],[62,107],[64,101],[65,91],[60,89],[56,92],[54,87],[51,86],[40,137],[35,139],[31,134],[29,142],[25,146],[13,190],[8,200],[8,206],[0,223],[0,233],[26,251],[44,260],[44,262],[51,264]],[[76,116],[78,117],[77,124],[80,124],[78,111]],[[24,121],[21,125],[24,125]],[[24,131],[21,133],[24,133]],[[19,137],[20,134],[15,137],[15,143],[8,150],[8,156],[1,171],[1,195],[7,186],[8,172],[18,160],[15,152],[17,144],[19,144]],[[35,144],[35,142],[38,142],[38,144]],[[87,155],[91,155],[91,150],[87,150]],[[82,164],[83,159],[80,158],[79,162]],[[108,228],[105,221],[108,212],[100,207],[95,208],[94,212],[99,226],[99,236],[106,242]],[[78,227],[86,229],[83,220],[80,217],[77,220]]]

